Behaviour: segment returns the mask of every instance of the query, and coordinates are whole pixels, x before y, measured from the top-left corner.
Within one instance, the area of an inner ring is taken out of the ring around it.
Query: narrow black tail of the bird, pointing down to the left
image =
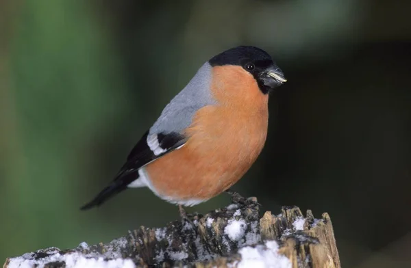
[[[99,206],[103,204],[103,202],[109,200],[117,193],[124,191],[127,189],[127,185],[132,183],[134,180],[138,178],[138,173],[131,172],[129,174],[122,174],[121,177],[116,178],[113,182],[103,189],[93,200],[82,206],[80,209],[82,211],[86,211],[87,209],[92,209],[95,206]]]

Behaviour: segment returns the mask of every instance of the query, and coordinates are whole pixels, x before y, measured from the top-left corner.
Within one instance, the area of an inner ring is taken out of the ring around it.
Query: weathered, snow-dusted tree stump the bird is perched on
[[[140,228],[108,244],[51,247],[8,258],[14,267],[321,267],[340,268],[331,219],[297,206],[260,217],[256,198],[163,228]]]

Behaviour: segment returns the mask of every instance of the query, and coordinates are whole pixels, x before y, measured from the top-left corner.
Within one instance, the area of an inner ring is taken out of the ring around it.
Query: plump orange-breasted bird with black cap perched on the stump
[[[287,80],[266,51],[236,46],[211,57],[162,110],[114,177],[80,209],[129,188],[184,206],[206,202],[240,180],[266,142],[269,93]]]

